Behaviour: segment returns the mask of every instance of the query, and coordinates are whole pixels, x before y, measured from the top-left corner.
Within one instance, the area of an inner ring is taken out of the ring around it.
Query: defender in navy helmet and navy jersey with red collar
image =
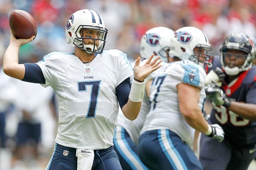
[[[220,46],[220,57],[214,58],[207,74],[215,83],[206,87],[213,107],[208,122],[220,125],[225,139],[218,143],[201,135],[199,159],[204,170],[247,170],[256,156],[254,56],[253,41],[240,32],[228,34]]]

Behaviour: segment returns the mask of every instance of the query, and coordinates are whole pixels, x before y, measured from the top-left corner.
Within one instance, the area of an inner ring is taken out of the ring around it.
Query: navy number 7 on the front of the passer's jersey
[[[89,102],[86,118],[95,117],[97,102],[98,102],[98,96],[99,96],[100,82],[101,82],[100,80],[99,81],[77,82],[79,92],[87,91],[87,86],[91,86],[90,102]]]

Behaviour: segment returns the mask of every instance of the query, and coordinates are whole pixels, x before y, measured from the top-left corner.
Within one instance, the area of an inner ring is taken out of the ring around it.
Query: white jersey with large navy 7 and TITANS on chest
[[[89,150],[113,146],[116,86],[133,75],[126,54],[97,54],[87,66],[73,53],[54,52],[37,63],[59,99],[58,144]]]

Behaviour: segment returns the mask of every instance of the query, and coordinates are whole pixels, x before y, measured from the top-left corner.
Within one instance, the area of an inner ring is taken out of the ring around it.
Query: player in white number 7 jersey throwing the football
[[[103,51],[107,32],[98,13],[76,11],[66,25],[67,42],[75,52],[53,52],[41,62],[26,64],[18,64],[18,51],[35,36],[17,40],[11,35],[3,59],[5,74],[51,86],[59,99],[58,134],[47,170],[122,169],[113,150],[119,106],[127,119],[137,118],[144,79],[160,68],[161,60],[151,62],[151,55],[139,66],[138,57],[133,71],[126,54]]]

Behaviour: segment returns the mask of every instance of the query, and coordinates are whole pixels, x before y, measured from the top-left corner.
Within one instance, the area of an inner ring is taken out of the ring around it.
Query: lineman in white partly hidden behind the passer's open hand
[[[173,33],[174,31],[172,29],[166,27],[155,27],[146,31],[140,41],[140,56],[145,58],[140,65],[145,64],[147,61],[146,58],[151,54],[161,56],[161,59],[164,61],[163,64],[166,63],[169,57],[168,52]],[[157,71],[160,71],[161,68],[157,69]],[[146,87],[150,85],[148,80],[151,79],[152,74],[145,79]],[[126,119],[122,114],[119,114],[113,142],[123,170],[147,169],[139,159],[137,145],[140,130],[143,127],[148,111],[148,96],[145,93],[142,108],[137,119],[131,121]]]

